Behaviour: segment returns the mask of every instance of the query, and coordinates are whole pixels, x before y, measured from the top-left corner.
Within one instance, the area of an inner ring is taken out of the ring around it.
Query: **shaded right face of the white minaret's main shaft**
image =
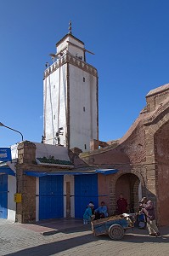
[[[90,140],[97,139],[97,115],[97,78],[70,65],[70,148],[90,150]]]

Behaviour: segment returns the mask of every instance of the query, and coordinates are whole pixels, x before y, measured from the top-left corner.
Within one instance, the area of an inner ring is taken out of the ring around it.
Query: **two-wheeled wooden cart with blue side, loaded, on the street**
[[[94,236],[109,235],[113,240],[120,240],[125,230],[133,228],[132,219],[122,215],[100,218],[91,222]]]

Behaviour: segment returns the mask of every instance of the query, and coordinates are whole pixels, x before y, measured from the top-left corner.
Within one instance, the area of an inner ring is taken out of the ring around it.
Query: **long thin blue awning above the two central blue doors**
[[[96,174],[101,173],[104,175],[108,174],[114,174],[118,172],[117,169],[97,169],[92,171],[86,171],[86,172],[73,172],[73,171],[65,171],[65,172],[30,172],[25,171],[25,175],[33,176],[33,177],[42,177],[42,176],[53,176],[53,175],[88,175],[88,174]]]

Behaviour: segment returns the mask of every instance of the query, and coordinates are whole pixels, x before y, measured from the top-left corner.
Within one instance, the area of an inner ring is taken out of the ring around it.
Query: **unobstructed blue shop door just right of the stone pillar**
[[[39,177],[39,219],[63,218],[63,176]]]

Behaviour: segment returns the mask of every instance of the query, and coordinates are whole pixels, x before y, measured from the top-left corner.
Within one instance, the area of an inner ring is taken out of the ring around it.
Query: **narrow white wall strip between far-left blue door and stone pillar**
[[[8,220],[15,221],[16,203],[14,194],[16,193],[16,177],[8,175]]]

